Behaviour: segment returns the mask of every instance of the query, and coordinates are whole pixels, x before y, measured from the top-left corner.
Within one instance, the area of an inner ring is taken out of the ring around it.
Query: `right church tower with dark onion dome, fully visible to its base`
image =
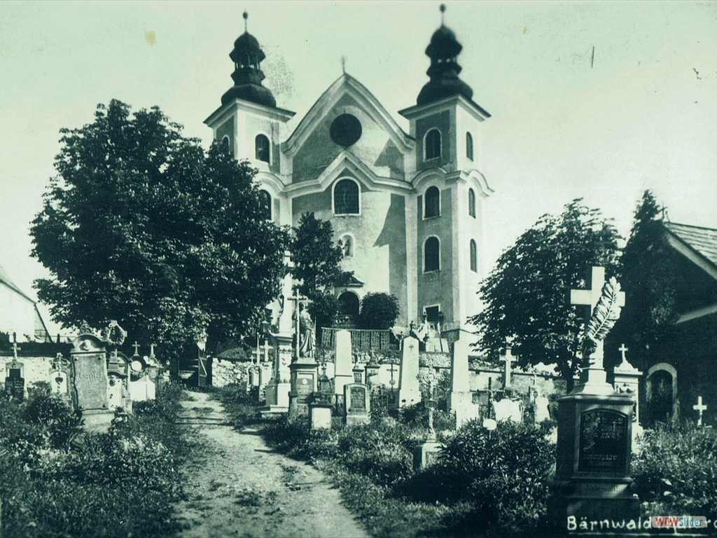
[[[441,13],[443,19],[443,5]],[[416,140],[418,315],[440,321],[444,330],[465,327],[480,308],[481,202],[492,192],[479,171],[481,123],[490,114],[459,77],[461,49],[442,20],[425,50],[429,81],[416,105],[399,112]]]

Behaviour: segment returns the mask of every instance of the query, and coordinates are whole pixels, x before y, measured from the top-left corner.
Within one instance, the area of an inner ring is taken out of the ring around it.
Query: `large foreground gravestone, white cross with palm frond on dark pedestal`
[[[590,289],[571,292],[571,303],[589,312],[580,382],[558,400],[556,481],[548,506],[562,529],[571,520],[637,521],[640,515],[630,477],[632,398],[614,391],[602,367],[604,337],[625,299],[617,281],[604,276],[604,268],[592,268]]]

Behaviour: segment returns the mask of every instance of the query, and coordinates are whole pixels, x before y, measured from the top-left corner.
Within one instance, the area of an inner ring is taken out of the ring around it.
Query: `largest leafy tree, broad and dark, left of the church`
[[[267,222],[255,170],[219,144],[205,152],[158,108],[99,105],[63,129],[32,255],[63,326],[117,319],[132,339],[177,349],[240,336],[276,296],[285,230]]]

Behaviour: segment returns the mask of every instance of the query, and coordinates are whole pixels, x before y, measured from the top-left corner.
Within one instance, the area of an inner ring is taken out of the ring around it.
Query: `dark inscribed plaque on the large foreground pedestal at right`
[[[627,415],[609,409],[580,415],[578,471],[625,472],[627,465]]]

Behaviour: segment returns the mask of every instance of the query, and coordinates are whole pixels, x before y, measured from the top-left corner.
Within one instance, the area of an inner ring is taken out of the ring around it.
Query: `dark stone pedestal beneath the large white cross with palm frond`
[[[631,445],[630,396],[574,391],[558,401],[556,481],[548,506],[559,527],[566,528],[569,516],[578,522],[637,520]]]

